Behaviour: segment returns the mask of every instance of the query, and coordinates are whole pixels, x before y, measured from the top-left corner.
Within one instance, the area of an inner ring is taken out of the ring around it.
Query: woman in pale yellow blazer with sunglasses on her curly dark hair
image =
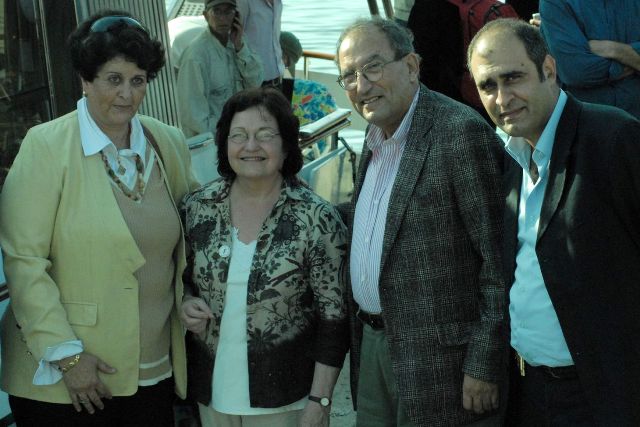
[[[172,426],[194,181],[182,133],[137,115],[164,49],[113,11],[69,45],[85,96],[28,132],[0,197],[1,386],[18,426]]]

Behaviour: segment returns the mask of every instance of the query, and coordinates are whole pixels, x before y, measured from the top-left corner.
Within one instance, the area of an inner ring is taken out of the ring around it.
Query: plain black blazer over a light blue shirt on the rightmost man
[[[640,425],[640,122],[569,95],[556,131],[536,254],[598,425]],[[505,175],[513,284],[522,168]]]

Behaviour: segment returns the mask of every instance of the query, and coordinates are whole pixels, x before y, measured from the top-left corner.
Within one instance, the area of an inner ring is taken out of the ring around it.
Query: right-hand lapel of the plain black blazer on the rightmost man
[[[580,106],[571,95],[567,94],[567,96],[567,103],[558,123],[553,151],[551,152],[549,183],[547,184],[542,210],[540,211],[538,240],[547,230],[547,226],[558,209],[558,203],[562,198],[567,174],[567,157],[576,135]]]

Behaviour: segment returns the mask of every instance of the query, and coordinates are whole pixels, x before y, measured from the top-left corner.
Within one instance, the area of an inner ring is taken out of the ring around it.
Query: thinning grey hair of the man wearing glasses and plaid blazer
[[[340,34],[340,38],[336,45],[335,57],[338,69],[340,69],[338,52],[340,51],[340,46],[344,39],[352,33],[362,34],[372,30],[378,30],[385,35],[396,58],[402,58],[405,55],[415,52],[413,48],[413,34],[408,28],[396,23],[395,21],[382,19],[380,17],[361,18],[345,28],[344,31],[342,31],[342,34]]]

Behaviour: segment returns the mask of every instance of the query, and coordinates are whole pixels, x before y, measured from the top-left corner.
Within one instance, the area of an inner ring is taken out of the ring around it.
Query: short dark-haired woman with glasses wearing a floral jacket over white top
[[[185,198],[190,396],[203,426],[328,426],[348,347],[337,211],[296,177],[298,120],[250,89],[217,126],[222,176]]]

